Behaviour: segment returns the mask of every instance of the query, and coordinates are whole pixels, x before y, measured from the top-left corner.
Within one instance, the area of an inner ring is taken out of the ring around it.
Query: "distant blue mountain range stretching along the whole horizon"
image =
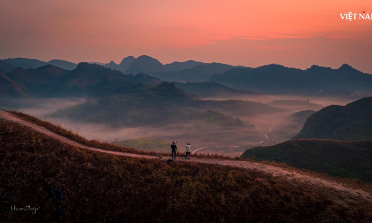
[[[91,64],[99,65],[96,62],[91,62]],[[0,70],[9,72],[17,67],[37,69],[46,65],[72,71],[78,67],[77,64],[63,60],[44,62],[15,58],[0,61]],[[306,70],[276,64],[247,68],[192,60],[163,65],[155,58],[142,55],[138,58],[126,57],[120,64],[111,61],[103,66],[124,74],[142,73],[166,81],[216,82],[231,88],[249,89],[264,94],[355,96],[359,98],[372,94],[372,75],[362,73],[347,64],[338,69],[313,65]]]

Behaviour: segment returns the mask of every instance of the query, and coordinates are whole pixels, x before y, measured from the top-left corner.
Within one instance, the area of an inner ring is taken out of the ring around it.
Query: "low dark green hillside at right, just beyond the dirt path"
[[[372,183],[372,140],[290,140],[275,146],[247,149],[241,157],[283,162],[330,176]]]

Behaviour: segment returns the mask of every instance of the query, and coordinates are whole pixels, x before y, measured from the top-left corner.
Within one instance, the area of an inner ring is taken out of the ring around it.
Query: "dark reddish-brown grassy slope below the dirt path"
[[[0,222],[368,222],[333,190],[217,165],[78,149],[0,120]],[[335,201],[335,199],[337,201]],[[9,206],[40,207],[35,215]]]

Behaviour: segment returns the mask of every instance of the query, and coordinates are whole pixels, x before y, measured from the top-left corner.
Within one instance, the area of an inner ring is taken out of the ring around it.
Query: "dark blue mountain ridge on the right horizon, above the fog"
[[[209,80],[270,94],[350,95],[372,91],[372,75],[347,64],[338,69],[313,65],[300,70],[275,64],[253,69],[234,68],[214,74]]]

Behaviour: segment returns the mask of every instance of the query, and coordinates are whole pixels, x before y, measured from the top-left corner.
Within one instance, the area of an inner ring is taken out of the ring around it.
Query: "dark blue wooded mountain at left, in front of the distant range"
[[[158,78],[148,74],[126,75],[120,71],[89,63],[79,63],[76,69],[72,71],[52,65],[30,70],[18,67],[6,73],[6,75],[22,92],[36,97],[89,95],[93,94],[93,89],[102,92],[102,89],[98,89],[99,86],[107,90],[109,88],[108,82],[117,86],[114,82],[117,79],[130,81],[125,85],[128,89],[131,89],[129,85],[134,84],[134,82],[147,84],[161,82]]]

